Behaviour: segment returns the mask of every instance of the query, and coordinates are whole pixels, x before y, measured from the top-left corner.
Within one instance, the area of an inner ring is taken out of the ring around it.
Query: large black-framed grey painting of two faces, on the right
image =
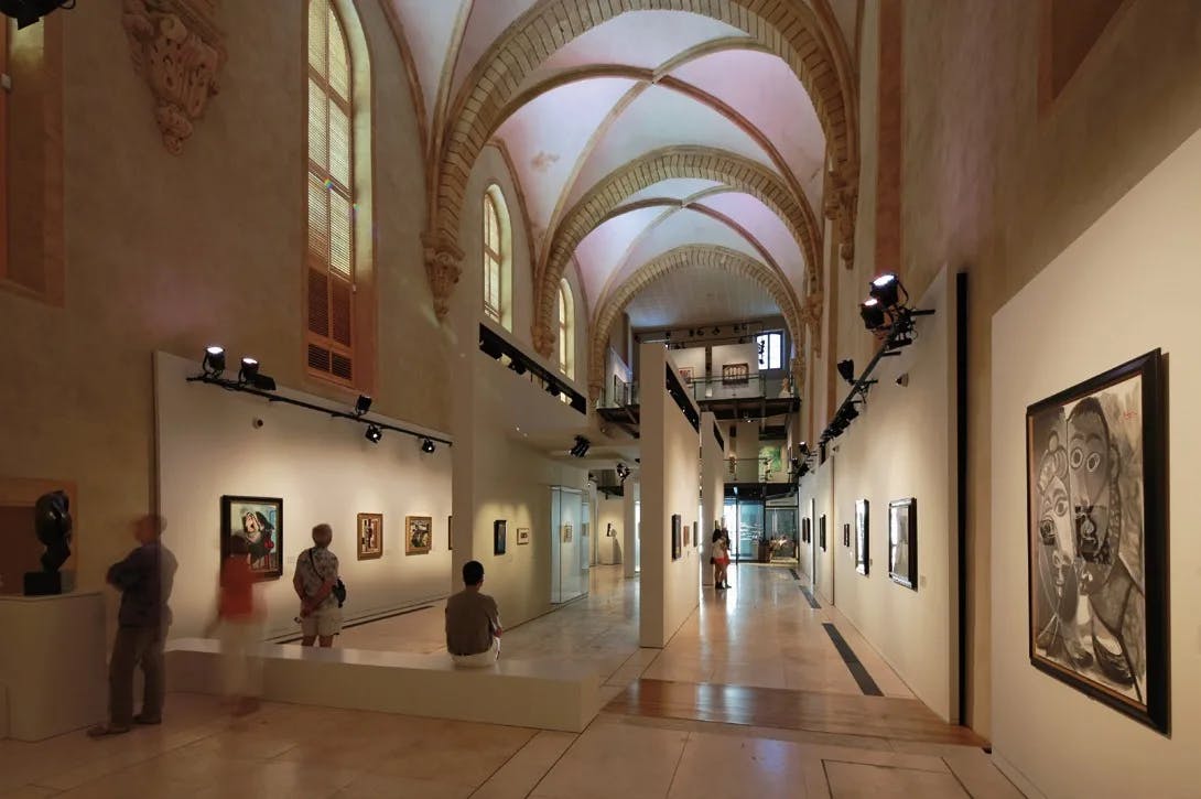
[[[1029,654],[1169,732],[1167,507],[1159,350],[1026,410]]]

